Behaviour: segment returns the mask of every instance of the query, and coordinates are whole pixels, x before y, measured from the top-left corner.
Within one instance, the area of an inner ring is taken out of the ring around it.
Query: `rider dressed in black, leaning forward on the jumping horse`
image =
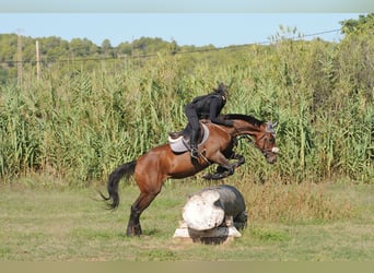
[[[226,104],[227,92],[227,86],[220,83],[218,88],[214,88],[212,93],[196,97],[185,106],[185,114],[192,128],[190,135],[191,157],[198,158],[199,156],[196,143],[200,128],[199,119],[209,119],[217,124],[233,127],[232,120],[219,118],[223,106]]]

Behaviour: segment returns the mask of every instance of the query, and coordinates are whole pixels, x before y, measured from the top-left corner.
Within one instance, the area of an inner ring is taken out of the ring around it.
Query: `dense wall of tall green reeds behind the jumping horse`
[[[115,49],[108,40],[98,48],[86,39],[68,45],[46,38],[42,45],[52,45],[50,58],[62,58],[59,51],[73,58],[44,66],[40,81],[33,64],[24,66],[21,86],[10,81],[16,72],[11,63],[1,72],[9,79],[0,87],[0,176],[40,171],[80,186],[104,181],[117,165],[165,143],[168,131],[186,123],[184,105],[225,82],[226,112],[279,121],[278,164],[267,165],[242,142],[246,164],[235,176],[254,182],[372,182],[374,35],[372,27],[360,29],[334,44],[293,40],[287,32],[295,36],[295,29],[282,28],[269,46],[189,55],[175,54],[183,50],[176,44],[141,38],[135,49],[124,44],[117,50],[157,51],[152,58],[90,61],[79,58]],[[8,38],[16,46],[16,36]]]

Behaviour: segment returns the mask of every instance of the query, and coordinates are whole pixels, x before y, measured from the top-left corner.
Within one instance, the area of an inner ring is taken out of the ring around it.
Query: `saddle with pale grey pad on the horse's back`
[[[188,123],[187,127],[179,132],[168,133],[168,144],[175,153],[183,153],[190,150],[189,139],[192,132],[191,126]],[[200,122],[199,135],[197,138],[197,144],[200,146],[203,144],[209,136],[209,129],[206,124]]]

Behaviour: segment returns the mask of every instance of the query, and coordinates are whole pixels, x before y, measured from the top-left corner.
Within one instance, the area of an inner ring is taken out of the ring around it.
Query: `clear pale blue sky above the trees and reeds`
[[[340,21],[358,19],[360,14],[363,13],[0,13],[0,34],[87,38],[98,46],[109,39],[114,47],[140,37],[175,40],[179,46],[225,47],[266,43],[280,33],[280,25],[296,27],[304,35],[339,29]],[[340,32],[317,36],[335,41],[342,37]]]

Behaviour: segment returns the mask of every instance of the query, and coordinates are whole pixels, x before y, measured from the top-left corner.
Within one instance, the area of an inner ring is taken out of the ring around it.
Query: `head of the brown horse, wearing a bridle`
[[[266,161],[270,164],[277,162],[279,153],[279,149],[276,146],[276,126],[277,122],[273,124],[266,122],[264,127],[261,127],[261,132],[256,134],[255,139],[256,146],[262,152]]]

